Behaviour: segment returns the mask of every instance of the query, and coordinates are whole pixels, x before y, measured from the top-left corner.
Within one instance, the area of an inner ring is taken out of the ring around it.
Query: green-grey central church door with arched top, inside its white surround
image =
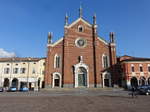
[[[84,67],[78,68],[78,86],[87,86],[87,71]]]

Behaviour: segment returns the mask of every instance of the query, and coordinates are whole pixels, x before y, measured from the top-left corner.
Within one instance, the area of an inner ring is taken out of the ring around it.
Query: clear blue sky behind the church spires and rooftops
[[[60,39],[80,4],[90,23],[96,13],[99,36],[115,32],[117,56],[150,58],[150,0],[0,0],[0,57],[45,57],[48,32]]]

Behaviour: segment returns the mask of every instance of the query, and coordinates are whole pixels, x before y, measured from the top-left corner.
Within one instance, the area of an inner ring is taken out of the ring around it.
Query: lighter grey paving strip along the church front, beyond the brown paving
[[[128,91],[121,89],[97,89],[97,88],[80,88],[80,89],[48,89],[40,90],[39,92],[2,92],[0,96],[99,96],[99,95],[111,95],[111,96],[128,96]]]

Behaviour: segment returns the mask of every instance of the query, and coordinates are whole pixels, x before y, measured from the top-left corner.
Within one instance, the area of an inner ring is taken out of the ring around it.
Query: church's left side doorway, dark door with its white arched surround
[[[55,87],[60,87],[61,88],[61,85],[62,85],[62,76],[61,76],[61,74],[58,73],[58,72],[55,72],[52,75],[53,75],[52,88],[55,88]]]

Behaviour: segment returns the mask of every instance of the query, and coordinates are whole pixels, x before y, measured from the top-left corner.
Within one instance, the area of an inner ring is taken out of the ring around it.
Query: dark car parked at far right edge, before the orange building
[[[150,95],[150,86],[144,85],[137,87],[138,94]]]

